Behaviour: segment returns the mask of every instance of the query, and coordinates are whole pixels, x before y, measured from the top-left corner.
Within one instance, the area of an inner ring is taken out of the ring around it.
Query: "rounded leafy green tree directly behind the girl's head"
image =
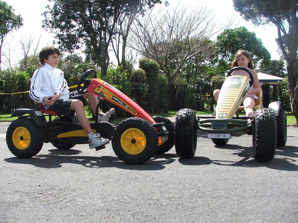
[[[231,68],[235,54],[239,49],[246,50],[250,54],[255,67],[270,63],[270,53],[254,32],[249,32],[243,26],[226,29],[218,35],[216,43],[218,64],[224,68],[223,72]]]

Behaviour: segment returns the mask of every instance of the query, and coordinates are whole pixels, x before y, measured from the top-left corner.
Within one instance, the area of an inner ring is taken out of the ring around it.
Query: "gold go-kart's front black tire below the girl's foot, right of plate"
[[[255,112],[256,134],[253,136],[254,158],[260,162],[269,162],[276,150],[276,118],[271,109],[258,109]]]

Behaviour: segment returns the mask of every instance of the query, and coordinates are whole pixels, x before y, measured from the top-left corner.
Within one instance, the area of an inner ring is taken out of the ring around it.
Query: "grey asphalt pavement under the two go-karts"
[[[173,120],[173,118],[170,118]],[[141,165],[104,150],[45,143],[20,159],[7,148],[0,122],[0,222],[298,222],[298,128],[285,147],[260,163],[252,137],[215,146],[198,132],[196,154],[173,147]]]

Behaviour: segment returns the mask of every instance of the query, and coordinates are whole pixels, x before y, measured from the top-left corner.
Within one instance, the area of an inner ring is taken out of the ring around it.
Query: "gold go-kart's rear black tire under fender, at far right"
[[[287,143],[287,117],[285,114],[285,110],[280,109],[279,115],[276,116],[276,125],[276,147],[283,147]]]

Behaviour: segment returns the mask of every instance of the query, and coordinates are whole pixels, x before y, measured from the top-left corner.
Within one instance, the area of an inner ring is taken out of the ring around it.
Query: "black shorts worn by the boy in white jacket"
[[[52,106],[49,106],[49,109],[63,116],[72,118],[75,115],[75,111],[70,110],[70,104],[72,103],[73,99],[82,101],[83,106],[87,105],[87,101],[83,97],[83,95],[79,94],[77,91],[73,91],[69,93],[69,99],[57,100],[55,104],[53,104]]]

